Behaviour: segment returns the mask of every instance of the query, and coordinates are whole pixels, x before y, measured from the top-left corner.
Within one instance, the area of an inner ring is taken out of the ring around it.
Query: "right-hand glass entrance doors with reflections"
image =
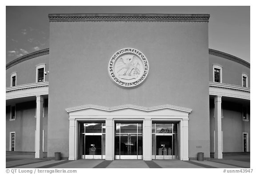
[[[177,159],[179,157],[179,124],[152,124],[152,159]]]

